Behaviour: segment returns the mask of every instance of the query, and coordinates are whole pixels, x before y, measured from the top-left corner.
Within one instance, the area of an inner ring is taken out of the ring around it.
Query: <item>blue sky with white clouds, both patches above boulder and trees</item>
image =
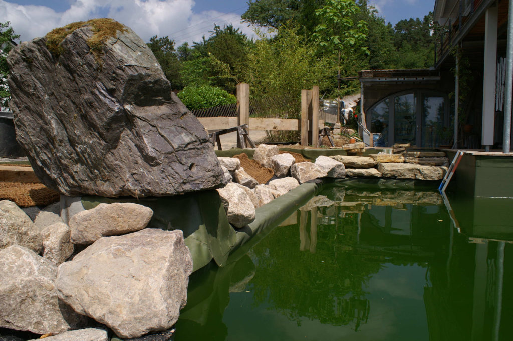
[[[385,21],[396,24],[409,17],[423,18],[435,0],[368,0]],[[241,22],[246,0],[0,0],[0,22],[9,21],[19,40],[43,36],[66,24],[95,17],[111,17],[130,27],[145,42],[153,35],[169,36],[176,45],[207,38],[214,23],[232,24],[249,37],[253,28]]]

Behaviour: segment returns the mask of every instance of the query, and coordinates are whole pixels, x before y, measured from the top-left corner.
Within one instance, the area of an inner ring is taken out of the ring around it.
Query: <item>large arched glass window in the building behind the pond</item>
[[[447,95],[410,90],[389,95],[366,112],[367,127],[383,135],[376,147],[409,143],[417,147],[447,145],[452,138]]]

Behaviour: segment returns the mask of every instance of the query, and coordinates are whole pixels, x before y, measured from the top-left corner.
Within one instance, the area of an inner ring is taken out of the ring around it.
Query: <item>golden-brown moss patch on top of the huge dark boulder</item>
[[[75,22],[68,24],[64,27],[59,27],[51,30],[46,34],[46,46],[55,56],[62,52],[60,46],[64,38],[74,30],[90,26],[93,31],[93,36],[87,39],[87,45],[98,59],[102,55],[102,45],[105,41],[116,35],[117,31],[125,32],[127,27],[121,23],[116,22],[111,18],[96,18],[88,20],[87,22]]]

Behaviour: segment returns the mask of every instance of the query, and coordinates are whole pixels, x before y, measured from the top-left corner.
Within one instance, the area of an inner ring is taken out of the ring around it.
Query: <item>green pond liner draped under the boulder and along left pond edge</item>
[[[225,266],[230,254],[257,236],[260,240],[264,229],[278,226],[321,187],[321,180],[312,180],[294,188],[258,208],[255,220],[242,229],[234,229],[228,223],[221,198],[215,190],[141,199],[83,196],[81,202],[86,210],[102,203],[135,203],[151,208],[153,216],[147,228],[182,230],[185,245],[191,251],[193,271],[196,271],[212,259],[218,266]]]

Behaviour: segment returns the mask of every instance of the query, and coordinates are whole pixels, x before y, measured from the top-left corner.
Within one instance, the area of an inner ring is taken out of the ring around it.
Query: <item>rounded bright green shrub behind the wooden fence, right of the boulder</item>
[[[187,86],[178,93],[178,97],[189,110],[237,103],[234,95],[211,85]]]

